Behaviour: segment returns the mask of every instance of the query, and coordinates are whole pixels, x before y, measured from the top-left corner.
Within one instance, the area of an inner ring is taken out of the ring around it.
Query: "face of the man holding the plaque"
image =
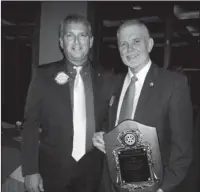
[[[148,63],[153,39],[142,27],[128,25],[118,33],[118,47],[123,63],[137,73]]]

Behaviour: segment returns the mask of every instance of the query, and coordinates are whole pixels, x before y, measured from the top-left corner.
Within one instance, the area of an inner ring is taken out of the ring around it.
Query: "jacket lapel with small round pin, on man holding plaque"
[[[140,97],[138,100],[138,104],[135,111],[134,120],[141,119],[141,117],[145,114],[145,106],[148,98],[151,97],[154,86],[156,84],[156,78],[158,75],[158,67],[155,64],[151,65],[149,72],[147,73],[146,79],[144,81]]]

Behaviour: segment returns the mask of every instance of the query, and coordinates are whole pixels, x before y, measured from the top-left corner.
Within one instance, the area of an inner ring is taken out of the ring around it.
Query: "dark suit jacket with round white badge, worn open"
[[[65,60],[42,65],[37,69],[30,84],[22,139],[24,175],[38,173],[41,170],[46,170],[48,174],[56,174],[58,170],[66,170],[66,167],[69,177],[73,172],[73,120],[69,83],[60,85],[55,81],[59,72],[68,74],[66,70]],[[91,76],[96,131],[99,131],[110,98],[111,74],[91,67]],[[40,125],[42,133],[39,144]],[[95,169],[100,166],[102,153],[94,150]]]

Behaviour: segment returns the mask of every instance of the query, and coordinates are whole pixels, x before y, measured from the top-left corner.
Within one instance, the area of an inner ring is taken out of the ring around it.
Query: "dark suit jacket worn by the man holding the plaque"
[[[116,97],[108,115],[109,129],[115,125],[124,78],[125,75],[121,75],[116,80]],[[164,164],[160,187],[164,192],[171,191],[186,176],[192,161],[192,103],[187,78],[152,64],[134,120],[156,127]]]

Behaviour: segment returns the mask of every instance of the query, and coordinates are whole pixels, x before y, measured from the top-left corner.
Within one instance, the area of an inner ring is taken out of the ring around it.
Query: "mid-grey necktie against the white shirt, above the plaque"
[[[134,103],[134,97],[135,97],[135,82],[136,81],[137,81],[137,77],[134,75],[131,78],[130,84],[124,95],[118,123],[122,122],[123,120],[132,118],[133,103]]]

